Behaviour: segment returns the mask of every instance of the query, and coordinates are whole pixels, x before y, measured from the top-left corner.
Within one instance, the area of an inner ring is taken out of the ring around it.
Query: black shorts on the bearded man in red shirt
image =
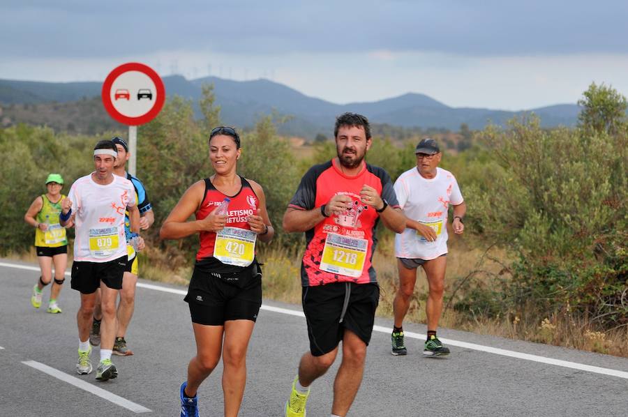
[[[343,340],[345,329],[366,344],[371,341],[375,310],[380,301],[377,284],[334,282],[303,287],[301,300],[313,356],[322,356],[336,349]]]

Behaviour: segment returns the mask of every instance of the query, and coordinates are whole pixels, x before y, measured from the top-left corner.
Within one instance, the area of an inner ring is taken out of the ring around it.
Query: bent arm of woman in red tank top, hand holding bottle
[[[159,237],[162,239],[180,239],[201,231],[220,232],[227,223],[226,215],[215,215],[218,207],[203,220],[190,220],[199,208],[204,197],[205,183],[197,181],[179,199],[170,214],[161,225]]]

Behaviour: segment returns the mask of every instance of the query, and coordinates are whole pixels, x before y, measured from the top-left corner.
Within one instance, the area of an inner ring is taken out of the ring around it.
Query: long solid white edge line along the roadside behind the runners
[[[39,268],[34,267],[34,266],[6,264],[6,263],[3,263],[3,262],[0,262],[0,266],[7,266],[8,268],[27,269],[29,271],[39,271]],[[66,275],[68,275],[68,273],[66,273]],[[153,284],[144,284],[143,282],[137,282],[137,287],[146,288],[146,289],[153,289],[155,291],[163,291],[163,292],[168,292],[170,294],[178,294],[178,295],[183,295],[183,296],[187,294],[187,291],[182,290],[182,289],[161,287],[160,285],[153,285]],[[301,311],[290,310],[290,309],[287,309],[287,308],[273,307],[271,305],[262,305],[262,310],[267,310],[267,311],[271,311],[271,312],[278,312],[278,313],[281,313],[281,314],[289,314],[291,316],[304,317],[304,314]],[[380,332],[380,333],[386,333],[386,334],[391,332],[390,328],[385,328],[383,326],[373,326],[373,330],[377,331],[377,332]],[[408,336],[408,338],[412,338],[412,339],[419,339],[419,340],[423,339],[424,340],[426,338],[426,335],[423,335],[421,333],[406,332],[406,331],[404,331],[403,333],[406,336]],[[593,372],[595,374],[603,374],[603,375],[608,375],[608,376],[611,376],[611,377],[618,377],[618,378],[628,379],[628,372],[624,372],[624,371],[620,371],[620,370],[613,370],[613,369],[609,369],[609,368],[606,368],[606,367],[598,367],[598,366],[592,366],[592,365],[585,365],[583,363],[562,361],[560,359],[553,359],[553,358],[546,358],[545,356],[524,354],[524,353],[521,353],[521,352],[518,352],[518,351],[511,351],[511,350],[507,350],[507,349],[500,349],[498,347],[484,346],[482,344],[460,342],[458,340],[453,340],[453,339],[443,339],[443,338],[439,338],[439,339],[442,342],[444,342],[445,344],[451,344],[451,346],[462,347],[464,349],[472,349],[472,350],[477,350],[477,351],[483,351],[483,352],[486,352],[486,353],[489,353],[489,354],[508,356],[510,358],[523,359],[525,361],[546,363],[548,365],[568,367],[568,368],[575,369],[575,370],[581,370],[581,371],[586,371],[586,372]]]

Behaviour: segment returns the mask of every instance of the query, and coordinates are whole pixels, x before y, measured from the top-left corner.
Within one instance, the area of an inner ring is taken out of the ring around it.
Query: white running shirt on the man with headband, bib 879
[[[124,211],[135,206],[135,189],[128,179],[113,178],[112,183],[100,185],[91,174],[82,176],[68,192],[76,213],[75,261],[108,262],[127,255]]]

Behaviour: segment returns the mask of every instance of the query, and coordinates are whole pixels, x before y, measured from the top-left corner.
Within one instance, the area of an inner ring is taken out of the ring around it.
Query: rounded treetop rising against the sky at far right
[[[616,135],[626,123],[626,98],[604,83],[597,86],[592,82],[589,89],[578,100],[583,109],[578,114],[579,125],[585,130]]]

